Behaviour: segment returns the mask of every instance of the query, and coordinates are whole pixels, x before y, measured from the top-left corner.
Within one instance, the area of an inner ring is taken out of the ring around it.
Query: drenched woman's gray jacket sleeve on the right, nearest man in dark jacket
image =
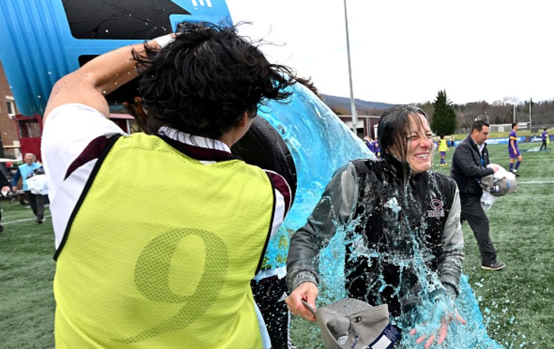
[[[447,217],[443,232],[442,254],[439,261],[439,279],[447,294],[460,293],[461,263],[464,261],[464,236],[460,224],[460,196],[458,187],[454,194],[452,209]]]

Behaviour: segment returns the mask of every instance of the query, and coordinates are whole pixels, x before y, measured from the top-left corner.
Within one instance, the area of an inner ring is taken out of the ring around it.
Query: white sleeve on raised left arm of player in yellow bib
[[[71,103],[52,110],[45,121],[41,154],[55,196],[69,166],[98,137],[125,134],[114,122],[86,105]]]

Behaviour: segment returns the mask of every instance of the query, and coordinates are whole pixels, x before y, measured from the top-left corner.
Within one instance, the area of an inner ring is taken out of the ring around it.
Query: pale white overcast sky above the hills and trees
[[[554,98],[554,2],[347,0],[355,98],[453,103]],[[270,60],[350,96],[343,0],[227,0]]]

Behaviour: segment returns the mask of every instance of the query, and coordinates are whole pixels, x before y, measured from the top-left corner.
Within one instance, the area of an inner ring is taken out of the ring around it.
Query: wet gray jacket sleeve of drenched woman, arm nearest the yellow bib
[[[290,239],[286,262],[289,290],[304,282],[319,284],[319,251],[335,235],[336,227],[350,220],[358,200],[357,182],[352,163],[338,169],[306,225]]]

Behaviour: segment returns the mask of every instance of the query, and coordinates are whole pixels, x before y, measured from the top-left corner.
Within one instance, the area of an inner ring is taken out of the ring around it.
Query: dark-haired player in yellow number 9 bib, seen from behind
[[[147,133],[105,95],[141,76]],[[269,347],[250,280],[290,207],[230,147],[294,72],[235,27],[182,24],[62,77],[42,139],[56,235],[56,346]]]

